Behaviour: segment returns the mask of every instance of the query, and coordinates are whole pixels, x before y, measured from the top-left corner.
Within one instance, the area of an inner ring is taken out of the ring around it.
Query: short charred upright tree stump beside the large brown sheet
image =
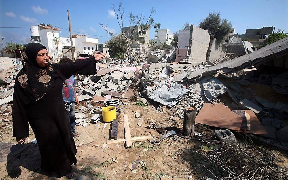
[[[195,115],[196,109],[193,107],[185,107],[182,133],[183,136],[194,136]]]

